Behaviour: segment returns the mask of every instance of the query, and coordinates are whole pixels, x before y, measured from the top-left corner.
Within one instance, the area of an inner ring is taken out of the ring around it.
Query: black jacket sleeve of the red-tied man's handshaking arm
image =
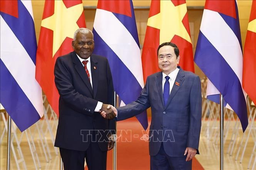
[[[64,62],[61,57],[56,60],[54,75],[55,85],[64,102],[74,111],[93,116],[98,101],[86,97],[75,90],[72,76],[69,72],[69,63]],[[85,110],[85,107],[91,109]]]

